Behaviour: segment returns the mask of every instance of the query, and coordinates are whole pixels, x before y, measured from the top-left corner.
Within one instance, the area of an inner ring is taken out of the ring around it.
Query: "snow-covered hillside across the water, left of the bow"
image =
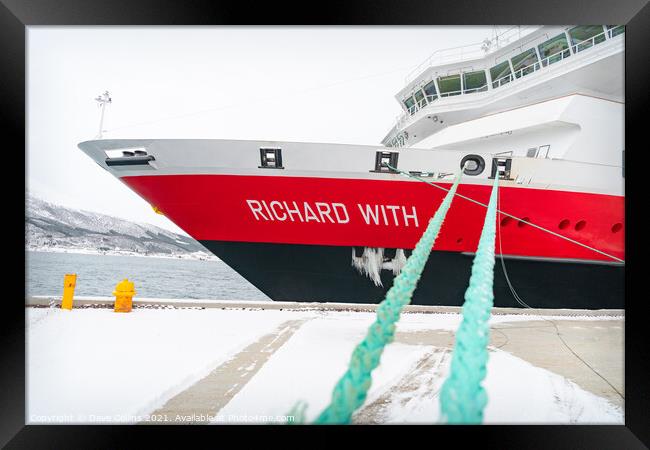
[[[35,251],[133,254],[212,259],[191,237],[104,214],[27,197],[25,248]]]

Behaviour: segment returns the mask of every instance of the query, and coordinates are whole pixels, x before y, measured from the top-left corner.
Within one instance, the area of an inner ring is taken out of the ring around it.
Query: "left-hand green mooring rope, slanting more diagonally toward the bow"
[[[413,291],[429,259],[431,248],[438,237],[461,177],[462,171],[456,176],[454,184],[429,221],[427,229],[402,271],[395,277],[393,286],[386,293],[386,298],[377,307],[375,322],[368,329],[368,334],[363,341],[354,349],[348,370],[334,387],[329,406],[314,423],[350,423],[354,411],[365,401],[372,383],[372,371],[379,365],[384,347],[393,340],[395,323],[399,320],[402,308],[411,302]],[[294,410],[298,411],[300,408]],[[304,408],[302,412],[304,417]]]

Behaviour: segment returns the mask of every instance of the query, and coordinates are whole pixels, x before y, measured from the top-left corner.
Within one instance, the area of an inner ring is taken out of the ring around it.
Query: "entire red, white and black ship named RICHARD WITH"
[[[378,145],[78,146],[272,300],[382,301],[462,171],[412,304],[463,304],[499,177],[494,305],[623,308],[624,48],[589,25],[437,51]]]

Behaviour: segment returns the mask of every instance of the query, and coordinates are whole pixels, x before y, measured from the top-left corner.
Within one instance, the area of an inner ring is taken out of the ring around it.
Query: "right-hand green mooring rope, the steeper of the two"
[[[487,372],[489,319],[494,304],[494,243],[499,177],[485,214],[481,240],[472,263],[469,287],[465,291],[463,320],[456,332],[450,374],[442,385],[440,409],[443,420],[452,424],[483,421],[487,394],[481,382]]]

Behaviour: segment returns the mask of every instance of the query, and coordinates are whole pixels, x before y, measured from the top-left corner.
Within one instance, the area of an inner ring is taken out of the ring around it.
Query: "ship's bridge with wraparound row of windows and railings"
[[[622,102],[620,74],[606,57],[622,63],[624,32],[623,25],[540,27],[500,48],[493,39],[436,52],[395,96],[403,113],[382,144],[411,146],[449,125],[571,93]],[[580,72],[599,61],[601,70]]]

